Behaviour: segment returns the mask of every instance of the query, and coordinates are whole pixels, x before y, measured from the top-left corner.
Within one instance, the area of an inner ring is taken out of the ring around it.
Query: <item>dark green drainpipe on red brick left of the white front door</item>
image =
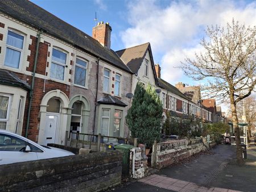
[[[36,64],[38,63],[38,50],[39,50],[39,43],[40,43],[40,36],[41,36],[41,34],[42,34],[42,31],[38,31],[38,34],[36,35],[36,37],[38,37],[38,41],[36,42],[35,63],[34,63],[34,69],[33,69],[33,73],[32,73],[32,83],[31,83],[31,90],[30,90],[30,102],[28,104],[27,125],[26,125],[25,137],[27,137],[28,127],[30,125],[30,112],[31,112],[33,92],[34,92],[35,72],[36,72]]]

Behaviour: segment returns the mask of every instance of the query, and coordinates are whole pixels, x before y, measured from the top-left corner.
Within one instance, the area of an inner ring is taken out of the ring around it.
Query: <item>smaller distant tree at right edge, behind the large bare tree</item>
[[[242,119],[243,116],[243,105],[245,107],[245,116],[246,123],[248,123],[248,132],[249,136],[251,136],[251,128],[253,128],[253,124],[256,122],[256,97],[254,95],[250,95],[249,97],[243,99],[237,103],[237,116],[238,119]]]

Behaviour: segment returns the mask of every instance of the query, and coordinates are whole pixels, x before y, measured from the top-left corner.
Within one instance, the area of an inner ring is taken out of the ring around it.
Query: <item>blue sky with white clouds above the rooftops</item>
[[[225,26],[232,19],[256,25],[256,1],[31,0],[65,22],[92,35],[97,22],[112,26],[114,51],[150,42],[161,78],[175,85],[198,85],[184,76],[180,62],[200,52],[205,28]]]

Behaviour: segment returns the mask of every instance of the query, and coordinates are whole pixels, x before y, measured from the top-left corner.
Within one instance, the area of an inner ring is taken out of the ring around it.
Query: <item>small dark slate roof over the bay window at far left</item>
[[[30,90],[30,86],[20,80],[14,73],[0,69],[0,84],[20,87],[24,90]]]

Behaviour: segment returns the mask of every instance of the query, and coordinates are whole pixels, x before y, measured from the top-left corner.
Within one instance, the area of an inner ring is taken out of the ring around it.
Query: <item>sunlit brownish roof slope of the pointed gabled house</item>
[[[116,51],[116,53],[119,57],[121,57],[123,62],[125,62],[125,64],[129,66],[133,73],[138,73],[144,57],[146,56],[149,45],[150,43],[144,43],[135,47]]]

